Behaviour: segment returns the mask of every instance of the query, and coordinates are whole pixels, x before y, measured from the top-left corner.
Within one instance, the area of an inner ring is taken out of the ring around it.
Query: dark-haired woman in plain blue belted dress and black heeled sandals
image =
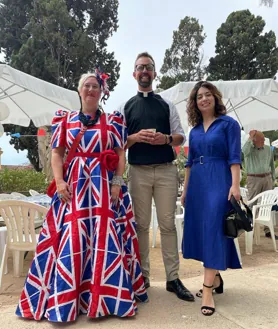
[[[226,115],[222,95],[211,83],[198,82],[187,107],[193,127],[182,204],[185,205],[183,257],[203,262],[202,314],[215,311],[212,291],[223,292],[219,273],[241,268],[233,239],[224,235],[224,216],[233,195],[240,199],[240,126]]]

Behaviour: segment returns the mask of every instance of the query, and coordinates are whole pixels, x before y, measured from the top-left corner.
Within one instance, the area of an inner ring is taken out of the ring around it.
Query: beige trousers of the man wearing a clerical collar
[[[160,227],[161,251],[167,281],[178,278],[179,254],[175,226],[178,196],[178,172],[172,163],[162,165],[131,165],[129,192],[135,213],[136,230],[143,276],[150,275],[149,229],[154,198]]]

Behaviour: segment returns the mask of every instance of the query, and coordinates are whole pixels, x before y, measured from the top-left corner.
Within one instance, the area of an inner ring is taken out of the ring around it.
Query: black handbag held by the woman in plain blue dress
[[[233,196],[230,200],[233,209],[229,211],[224,220],[224,234],[228,238],[237,238],[243,232],[253,230],[253,215],[251,209],[243,202],[237,201]]]

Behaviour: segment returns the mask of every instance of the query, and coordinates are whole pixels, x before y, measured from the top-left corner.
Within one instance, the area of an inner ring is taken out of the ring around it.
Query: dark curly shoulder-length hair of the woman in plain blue
[[[186,112],[188,115],[188,123],[192,127],[197,126],[202,121],[202,114],[197,107],[197,93],[201,87],[207,88],[214,96],[215,99],[214,115],[216,117],[219,117],[220,115],[225,115],[227,113],[227,109],[222,102],[222,94],[215,87],[215,85],[213,85],[208,81],[199,81],[196,83],[196,85],[194,86],[194,88],[192,89],[189,95],[187,108],[186,108]]]

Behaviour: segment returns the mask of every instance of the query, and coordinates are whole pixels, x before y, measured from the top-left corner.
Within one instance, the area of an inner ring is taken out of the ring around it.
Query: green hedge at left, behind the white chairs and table
[[[0,193],[20,192],[28,195],[30,189],[45,193],[47,186],[45,175],[34,169],[0,171]]]

